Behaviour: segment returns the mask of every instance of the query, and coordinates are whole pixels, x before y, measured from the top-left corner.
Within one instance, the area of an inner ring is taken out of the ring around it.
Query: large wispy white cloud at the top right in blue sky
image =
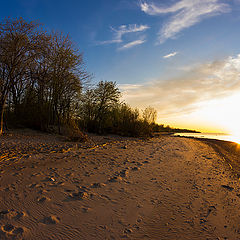
[[[230,11],[230,6],[219,0],[180,0],[171,6],[157,6],[154,3],[140,2],[143,12],[149,15],[172,14],[158,33],[158,42],[174,38],[182,30],[205,18]]]

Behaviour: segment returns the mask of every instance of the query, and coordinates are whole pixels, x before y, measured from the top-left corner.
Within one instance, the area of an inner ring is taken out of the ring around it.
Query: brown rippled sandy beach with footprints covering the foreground
[[[92,139],[0,138],[0,239],[240,239],[239,179],[216,146]]]

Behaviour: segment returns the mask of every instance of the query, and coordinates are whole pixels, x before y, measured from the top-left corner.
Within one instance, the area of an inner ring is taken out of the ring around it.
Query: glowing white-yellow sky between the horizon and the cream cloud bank
[[[228,133],[240,136],[240,92],[222,99],[205,102],[196,111],[158,122],[177,128],[187,128],[209,133]]]

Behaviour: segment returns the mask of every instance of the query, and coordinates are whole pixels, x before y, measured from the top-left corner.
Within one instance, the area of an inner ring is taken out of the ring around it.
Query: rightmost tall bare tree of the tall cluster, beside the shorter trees
[[[90,77],[85,71],[82,54],[74,50],[68,36],[52,35],[50,59],[50,107],[52,122],[59,127],[69,119],[73,102],[82,89],[82,82]],[[55,119],[56,118],[56,119]]]

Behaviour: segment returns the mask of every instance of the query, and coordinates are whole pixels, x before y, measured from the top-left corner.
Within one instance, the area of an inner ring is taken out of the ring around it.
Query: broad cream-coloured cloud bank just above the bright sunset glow
[[[159,116],[171,117],[195,111],[204,102],[236,91],[240,91],[240,54],[199,65],[177,78],[156,79],[133,88],[128,85],[123,96],[132,106],[151,105]]]

